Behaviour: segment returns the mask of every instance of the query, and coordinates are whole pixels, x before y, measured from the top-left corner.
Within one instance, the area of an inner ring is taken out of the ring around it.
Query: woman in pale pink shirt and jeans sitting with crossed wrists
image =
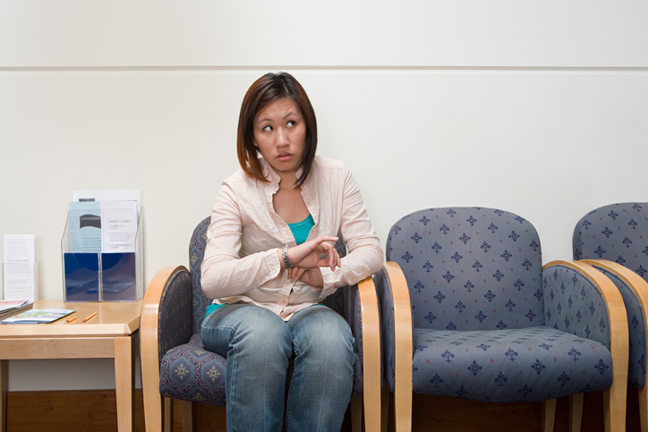
[[[379,271],[379,239],[348,168],[315,156],[315,113],[290,74],[248,89],[236,148],[242,169],[217,195],[201,266],[202,289],[217,300],[200,336],[227,359],[227,430],[279,431],[285,409],[288,431],[339,430],[354,337],[318,303]]]

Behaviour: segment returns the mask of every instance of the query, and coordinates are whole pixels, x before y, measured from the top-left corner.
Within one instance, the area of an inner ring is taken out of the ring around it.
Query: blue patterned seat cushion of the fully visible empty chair
[[[608,348],[548,326],[414,330],[413,387],[418,394],[522,402],[604,390],[610,385]]]

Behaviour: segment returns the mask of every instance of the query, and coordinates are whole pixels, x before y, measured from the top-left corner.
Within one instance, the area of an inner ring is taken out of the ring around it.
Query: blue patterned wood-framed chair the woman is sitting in
[[[200,263],[210,217],[194,230],[189,245],[191,270],[163,267],[151,280],[141,312],[141,381],[147,431],[170,422],[171,399],[179,399],[183,430],[192,430],[192,402],[225,406],[226,359],[200,342],[200,324],[211,301],[200,288]],[[345,248],[338,241],[337,250]],[[325,301],[351,326],[355,338],[354,430],[380,428],[379,308],[371,277],[339,289]],[[169,425],[167,425],[169,426]]]

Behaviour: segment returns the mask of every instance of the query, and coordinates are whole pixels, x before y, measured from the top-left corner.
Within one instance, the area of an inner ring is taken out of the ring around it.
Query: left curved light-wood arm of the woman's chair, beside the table
[[[141,387],[144,396],[144,421],[149,432],[160,432],[163,419],[162,396],[159,393],[159,302],[169,279],[183,271],[188,272],[184,266],[162,267],[150,281],[141,307]]]

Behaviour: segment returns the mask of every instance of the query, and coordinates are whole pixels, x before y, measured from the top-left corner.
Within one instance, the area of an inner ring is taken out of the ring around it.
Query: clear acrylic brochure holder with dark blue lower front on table
[[[70,216],[65,224],[63,258],[64,301],[138,301],[144,296],[141,217],[133,252],[82,251],[70,241]]]

